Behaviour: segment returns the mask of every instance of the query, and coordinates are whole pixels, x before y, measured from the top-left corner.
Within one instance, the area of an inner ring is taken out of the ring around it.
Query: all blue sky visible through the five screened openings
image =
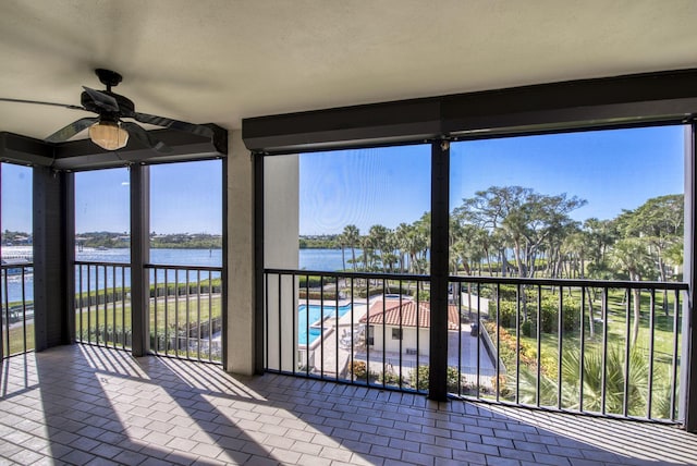
[[[588,201],[576,220],[609,219],[647,199],[684,191],[682,126],[583,132],[454,143],[451,209],[476,191],[521,185]],[[151,225],[157,233],[220,233],[222,164],[154,165]],[[2,164],[2,229],[32,229],[30,169]],[[430,210],[430,146],[301,156],[301,234],[356,224],[395,228]],[[76,231],[129,231],[129,171],[75,174]]]

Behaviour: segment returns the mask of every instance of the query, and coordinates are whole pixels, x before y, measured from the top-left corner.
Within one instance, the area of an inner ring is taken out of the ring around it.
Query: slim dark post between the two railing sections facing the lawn
[[[150,170],[131,165],[131,328],[133,355],[150,350],[150,286],[145,265],[150,256]]]

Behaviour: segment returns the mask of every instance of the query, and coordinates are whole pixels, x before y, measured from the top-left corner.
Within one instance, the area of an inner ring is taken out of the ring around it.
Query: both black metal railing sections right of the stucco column
[[[445,355],[430,353],[424,275],[265,272],[269,371],[448,391],[601,416],[681,421],[684,283],[451,277]]]

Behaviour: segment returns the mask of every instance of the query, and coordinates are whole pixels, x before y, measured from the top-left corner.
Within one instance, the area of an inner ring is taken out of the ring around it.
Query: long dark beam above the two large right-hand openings
[[[249,150],[289,152],[433,137],[680,122],[697,69],[342,107],[242,121]]]

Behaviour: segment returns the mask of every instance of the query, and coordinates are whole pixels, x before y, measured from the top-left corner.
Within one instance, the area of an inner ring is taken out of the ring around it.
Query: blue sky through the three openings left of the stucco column
[[[220,160],[150,167],[150,231],[222,232]],[[129,232],[129,170],[75,173],[75,231]],[[2,229],[32,230],[32,170],[2,164]]]

